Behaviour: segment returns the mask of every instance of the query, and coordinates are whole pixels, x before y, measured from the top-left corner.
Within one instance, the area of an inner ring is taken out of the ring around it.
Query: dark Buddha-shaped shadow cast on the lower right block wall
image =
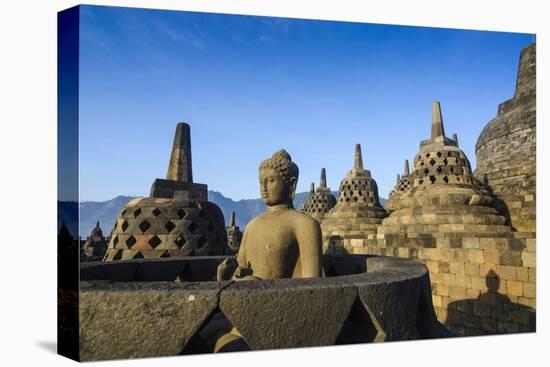
[[[493,269],[485,281],[487,292],[449,303],[445,325],[460,336],[535,332],[536,310],[498,293],[501,281]]]

